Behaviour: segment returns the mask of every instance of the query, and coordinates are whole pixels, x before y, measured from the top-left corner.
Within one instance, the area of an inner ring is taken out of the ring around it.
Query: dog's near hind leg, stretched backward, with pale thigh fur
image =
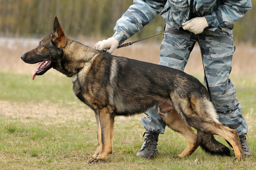
[[[233,161],[243,160],[244,153],[237,131],[225,127],[219,122],[212,102],[203,97],[191,96],[190,104],[188,105],[188,103],[188,100],[184,102],[183,106],[185,107],[182,109],[182,114],[188,124],[198,131],[224,137],[234,148],[236,159]]]

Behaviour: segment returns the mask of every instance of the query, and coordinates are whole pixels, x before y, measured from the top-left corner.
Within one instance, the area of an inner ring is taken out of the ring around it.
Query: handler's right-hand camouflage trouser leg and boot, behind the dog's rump
[[[200,34],[200,43],[212,102],[219,114],[220,122],[238,132],[240,140],[243,140],[241,144],[244,143],[243,149],[246,148],[245,155],[251,155],[244,135],[248,129],[247,123],[236,97],[236,88],[228,78],[235,51],[232,30],[204,31]]]

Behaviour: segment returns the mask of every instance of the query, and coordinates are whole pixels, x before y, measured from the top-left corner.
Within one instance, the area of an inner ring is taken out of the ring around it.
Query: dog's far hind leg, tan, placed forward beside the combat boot
[[[163,121],[171,129],[181,133],[188,142],[187,148],[179,155],[175,155],[175,158],[184,158],[191,155],[198,148],[196,141],[196,133],[190,128],[187,122],[185,122],[180,115],[175,111],[169,111],[168,113],[158,114],[162,117]]]

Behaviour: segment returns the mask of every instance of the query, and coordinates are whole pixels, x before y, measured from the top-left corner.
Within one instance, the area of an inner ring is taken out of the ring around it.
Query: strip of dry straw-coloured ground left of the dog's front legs
[[[78,102],[69,103],[23,103],[0,100],[0,115],[12,119],[19,119],[21,122],[42,121],[49,123],[65,122],[67,120],[83,121],[91,119],[95,121],[92,109],[85,107]],[[48,120],[48,121],[46,121]]]

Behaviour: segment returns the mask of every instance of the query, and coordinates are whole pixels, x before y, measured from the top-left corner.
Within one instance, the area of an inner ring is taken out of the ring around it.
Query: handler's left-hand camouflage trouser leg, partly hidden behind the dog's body
[[[177,26],[166,24],[164,31],[175,27]],[[191,35],[190,32],[183,29],[165,33],[160,46],[160,65],[183,71],[197,40],[195,36],[191,37]],[[164,134],[165,124],[158,116],[157,108],[152,108],[145,114],[148,116],[141,119],[143,127],[149,131]]]

